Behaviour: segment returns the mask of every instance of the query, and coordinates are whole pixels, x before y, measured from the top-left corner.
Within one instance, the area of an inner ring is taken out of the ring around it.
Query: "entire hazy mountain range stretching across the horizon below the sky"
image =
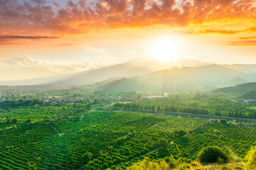
[[[125,62],[74,74],[0,81],[0,85],[85,85],[110,91],[194,91],[256,81],[256,64],[210,64],[155,71],[149,62]]]

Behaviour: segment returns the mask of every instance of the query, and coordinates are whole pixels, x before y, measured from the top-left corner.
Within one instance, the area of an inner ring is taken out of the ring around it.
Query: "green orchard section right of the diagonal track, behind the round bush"
[[[173,155],[186,162],[197,159],[198,152],[207,146],[222,147],[243,159],[251,147],[255,146],[256,129],[223,123],[206,123],[191,131],[191,135],[178,137],[167,149],[159,149],[149,154],[151,159],[161,159]]]

